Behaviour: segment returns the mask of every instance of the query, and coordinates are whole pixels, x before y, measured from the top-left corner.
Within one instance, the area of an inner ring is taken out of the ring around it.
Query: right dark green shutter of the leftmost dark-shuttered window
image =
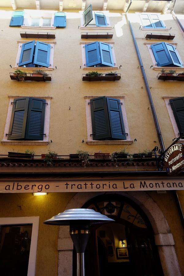
[[[28,118],[25,138],[29,140],[43,140],[44,137],[45,100],[29,99]]]

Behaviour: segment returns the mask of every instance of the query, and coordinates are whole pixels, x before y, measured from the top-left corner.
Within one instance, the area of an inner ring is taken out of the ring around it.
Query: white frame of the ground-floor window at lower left
[[[0,225],[32,224],[27,276],[35,275],[39,217],[0,217]]]

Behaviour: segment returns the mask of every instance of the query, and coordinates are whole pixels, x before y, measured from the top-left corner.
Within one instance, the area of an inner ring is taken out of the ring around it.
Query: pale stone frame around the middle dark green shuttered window
[[[128,136],[126,136],[126,140],[93,140],[93,136],[90,136],[92,134],[92,121],[91,121],[91,107],[88,105],[88,102],[90,102],[90,99],[98,98],[100,96],[85,96],[85,104],[86,104],[86,125],[87,125],[87,141],[86,144],[88,145],[131,145],[133,143],[133,140],[131,140],[130,137],[130,131],[128,127],[128,120],[126,116],[126,110],[125,110],[125,96],[106,96],[109,98],[116,98],[119,99],[122,103],[121,111],[123,115],[123,122],[125,126],[125,133],[128,133]]]

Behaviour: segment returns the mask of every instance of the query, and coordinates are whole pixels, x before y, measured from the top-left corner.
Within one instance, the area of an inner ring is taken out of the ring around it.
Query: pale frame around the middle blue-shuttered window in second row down
[[[118,69],[117,67],[117,63],[116,63],[116,57],[115,57],[115,53],[114,53],[114,42],[107,42],[107,41],[101,41],[101,42],[104,42],[104,43],[107,43],[111,46],[111,50],[112,50],[112,55],[113,55],[113,62],[114,62],[114,66],[106,66],[106,67],[87,67],[85,64],[86,64],[86,52],[85,52],[85,47],[84,45],[85,44],[89,44],[89,43],[92,43],[94,41],[89,41],[89,42],[80,42],[81,44],[81,50],[82,50],[82,68],[84,70],[113,70],[113,69]]]

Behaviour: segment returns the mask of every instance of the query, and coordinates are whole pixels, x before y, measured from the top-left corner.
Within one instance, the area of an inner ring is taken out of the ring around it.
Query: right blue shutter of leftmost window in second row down
[[[33,63],[43,67],[49,67],[50,48],[50,44],[37,41]]]

